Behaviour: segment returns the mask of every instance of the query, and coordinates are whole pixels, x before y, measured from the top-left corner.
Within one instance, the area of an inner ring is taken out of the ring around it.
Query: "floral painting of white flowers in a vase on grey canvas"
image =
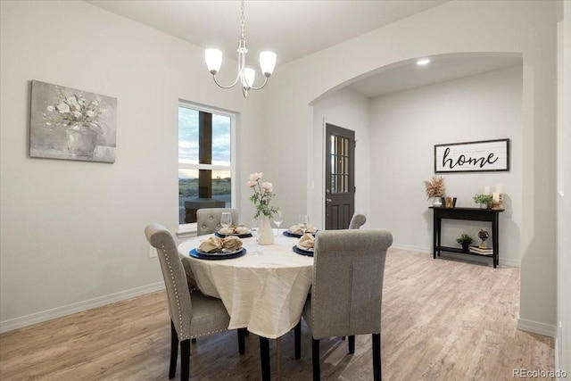
[[[117,98],[32,80],[29,156],[115,162]]]

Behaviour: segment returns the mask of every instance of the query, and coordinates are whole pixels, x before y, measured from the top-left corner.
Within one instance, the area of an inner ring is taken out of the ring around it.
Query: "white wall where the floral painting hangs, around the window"
[[[261,96],[216,87],[201,48],[90,4],[0,4],[0,328],[162,287],[143,229],[178,228],[178,99],[240,112],[239,178],[256,168],[244,137]],[[116,97],[116,162],[29,158],[31,79]]]

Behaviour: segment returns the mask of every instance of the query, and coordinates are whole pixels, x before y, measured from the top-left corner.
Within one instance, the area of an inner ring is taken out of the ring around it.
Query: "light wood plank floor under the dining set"
[[[166,380],[170,320],[164,292],[0,335],[0,379]],[[433,260],[391,249],[387,255],[382,320],[385,380],[509,380],[512,369],[553,370],[553,339],[518,331],[519,269]],[[311,377],[310,334],[303,325],[302,359],[293,333],[282,340],[285,380]],[[192,345],[195,380],[260,379],[256,335],[240,356],[236,331]],[[272,378],[275,341],[270,341]],[[370,338],[321,341],[325,380],[372,378]],[[180,361],[178,361],[180,367]],[[180,370],[177,371],[177,377]]]

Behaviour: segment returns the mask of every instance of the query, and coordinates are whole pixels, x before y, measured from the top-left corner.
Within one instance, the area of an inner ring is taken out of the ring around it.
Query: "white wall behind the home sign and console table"
[[[393,232],[394,245],[432,253],[431,201],[424,180],[434,176],[434,145],[510,139],[510,170],[443,176],[446,195],[457,206],[477,207],[472,200],[493,190],[505,192],[500,217],[501,264],[519,266],[522,214],[522,67],[442,82],[386,95],[371,101],[371,224]],[[405,223],[406,221],[406,223]],[[443,244],[458,246],[462,233],[474,237],[489,223],[443,221]],[[447,253],[447,255],[449,255]],[[475,260],[476,257],[469,257]],[[487,260],[487,263],[490,261]]]

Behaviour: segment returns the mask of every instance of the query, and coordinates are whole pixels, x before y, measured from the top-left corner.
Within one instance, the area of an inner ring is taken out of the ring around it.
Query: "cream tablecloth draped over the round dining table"
[[[282,230],[283,231],[283,230]],[[224,302],[228,329],[247,327],[256,335],[277,338],[299,321],[310,291],[313,257],[294,253],[299,240],[275,237],[275,244],[260,245],[261,256],[253,256],[254,238],[243,238],[247,253],[229,260],[202,260],[190,251],[209,236],[198,236],[178,245],[182,261],[188,261],[203,294]]]

